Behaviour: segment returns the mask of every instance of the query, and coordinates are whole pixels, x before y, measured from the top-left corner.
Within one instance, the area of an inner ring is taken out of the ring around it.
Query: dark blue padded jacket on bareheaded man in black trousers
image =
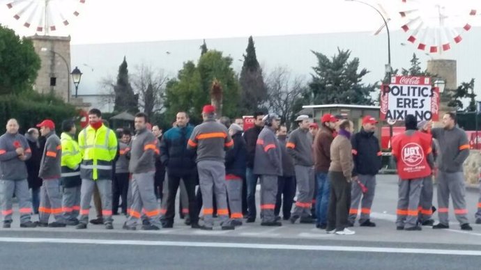
[[[187,149],[194,127],[173,127],[165,132],[160,141],[160,161],[169,175],[182,177],[197,172],[195,151]]]

